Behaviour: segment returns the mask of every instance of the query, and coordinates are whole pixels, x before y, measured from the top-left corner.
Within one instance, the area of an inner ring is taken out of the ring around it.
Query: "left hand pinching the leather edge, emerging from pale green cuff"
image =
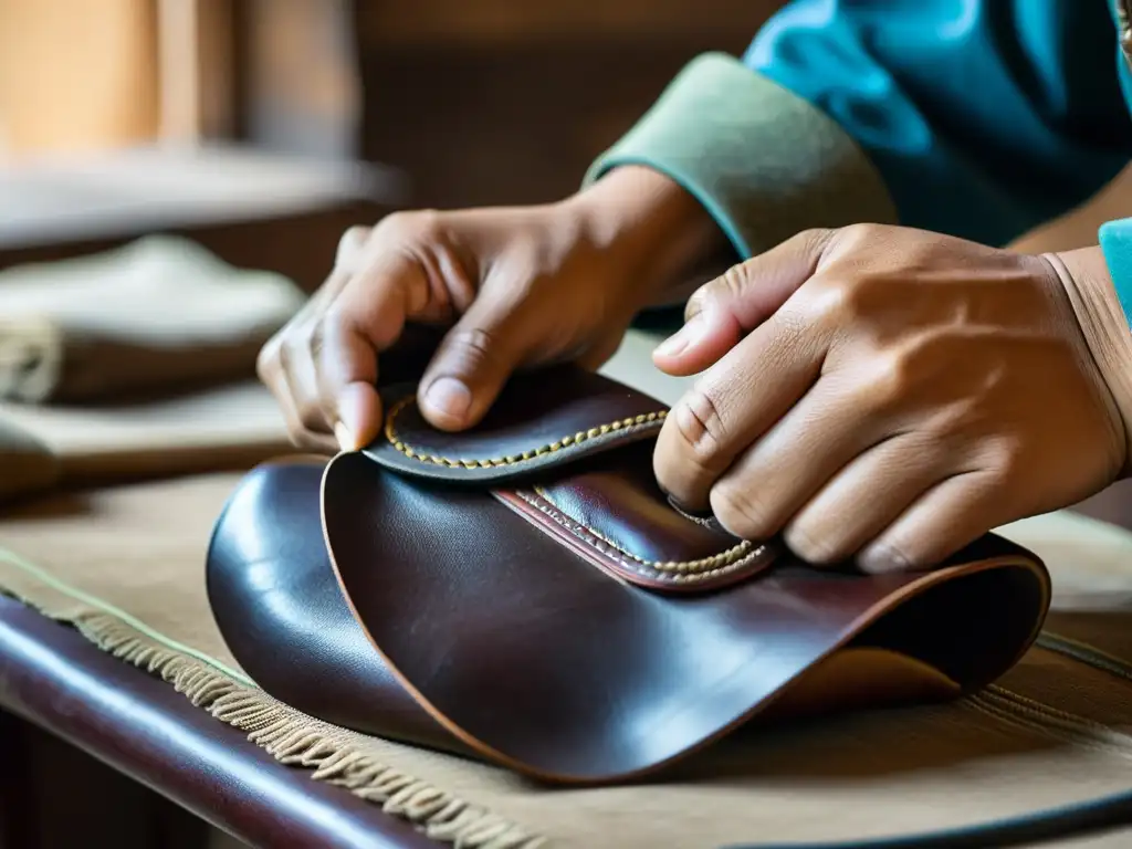
[[[381,427],[381,352],[409,321],[451,326],[418,401],[431,424],[462,430],[516,369],[600,366],[633,316],[720,238],[691,196],[638,168],[558,204],[393,214],[346,232],[334,271],[264,346],[258,372],[297,445],[355,449]]]

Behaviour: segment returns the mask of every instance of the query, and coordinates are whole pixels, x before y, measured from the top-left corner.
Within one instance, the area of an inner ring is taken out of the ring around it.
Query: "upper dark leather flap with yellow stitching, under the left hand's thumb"
[[[417,385],[383,389],[385,429],[363,453],[417,478],[503,483],[549,472],[610,448],[654,437],[663,404],[574,367],[512,378],[477,427],[448,434],[417,406]]]

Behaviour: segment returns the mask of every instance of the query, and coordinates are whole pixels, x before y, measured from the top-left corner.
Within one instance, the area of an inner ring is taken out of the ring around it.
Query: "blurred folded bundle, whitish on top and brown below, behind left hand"
[[[92,403],[250,378],[303,303],[281,275],[151,235],[0,272],[0,400]]]

